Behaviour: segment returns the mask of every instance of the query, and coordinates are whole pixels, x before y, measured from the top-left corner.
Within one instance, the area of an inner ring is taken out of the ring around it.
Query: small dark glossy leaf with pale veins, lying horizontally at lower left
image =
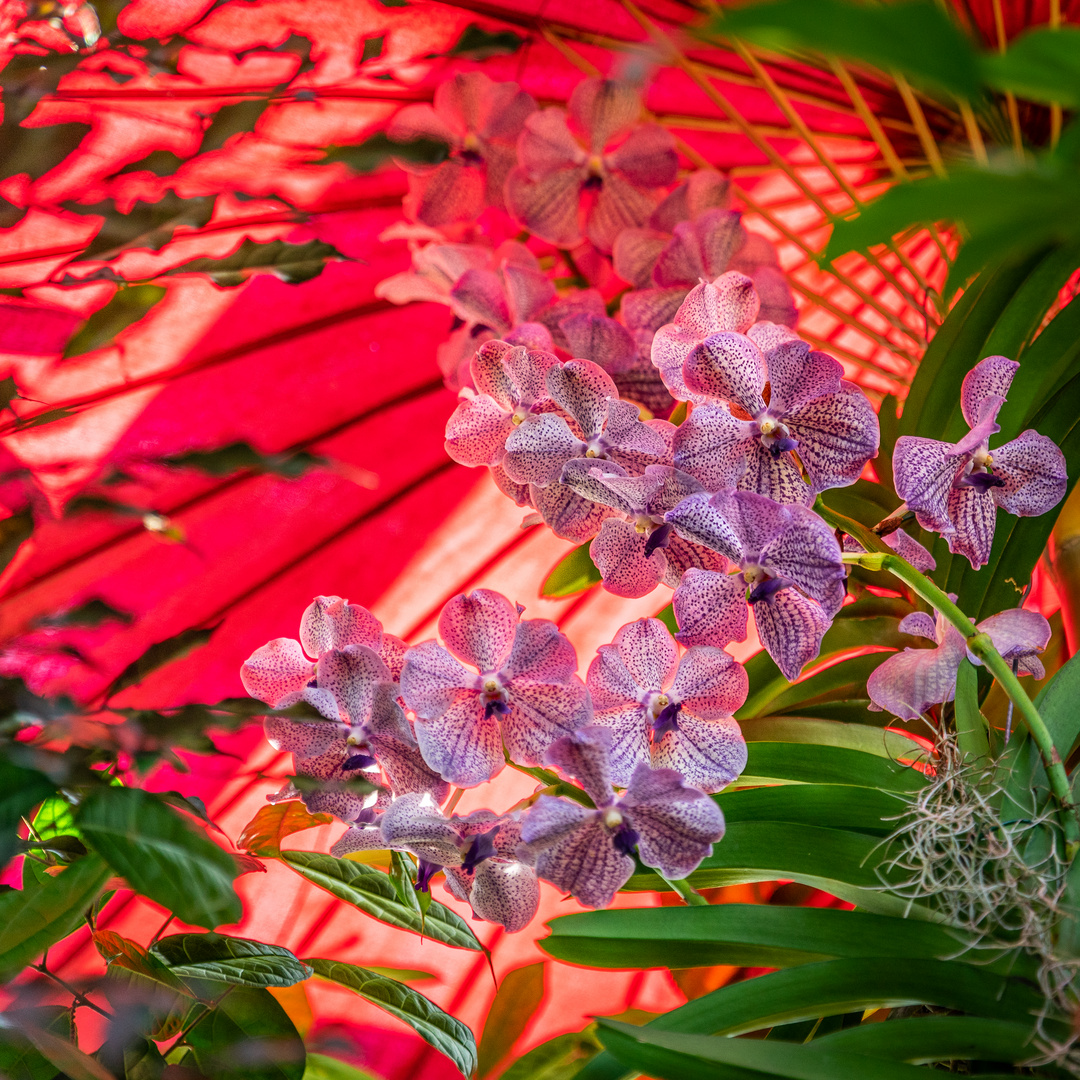
[[[311,969],[280,945],[222,934],[171,934],[150,946],[180,978],[205,978],[238,986],[293,986]]]

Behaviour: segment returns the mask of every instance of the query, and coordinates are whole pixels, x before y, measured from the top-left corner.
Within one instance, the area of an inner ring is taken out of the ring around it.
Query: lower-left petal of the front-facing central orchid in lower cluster
[[[507,764],[499,721],[487,715],[483,700],[471,690],[459,690],[440,715],[418,717],[416,739],[424,761],[458,787],[483,784]]]

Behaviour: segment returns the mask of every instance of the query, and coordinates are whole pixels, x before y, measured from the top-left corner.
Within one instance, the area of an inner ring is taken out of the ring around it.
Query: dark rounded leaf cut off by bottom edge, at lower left
[[[228,988],[185,1042],[214,1080],[302,1080],[303,1040],[269,990]]]

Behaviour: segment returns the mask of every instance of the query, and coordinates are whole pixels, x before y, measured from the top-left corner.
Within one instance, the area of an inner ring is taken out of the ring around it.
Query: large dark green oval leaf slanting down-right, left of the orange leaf
[[[178,919],[208,929],[239,921],[235,861],[149,792],[102,788],[77,820],[117,874]]]

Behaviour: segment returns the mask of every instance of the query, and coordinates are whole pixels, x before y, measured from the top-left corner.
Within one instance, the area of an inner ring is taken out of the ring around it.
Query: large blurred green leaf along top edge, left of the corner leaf
[[[886,72],[902,71],[939,93],[973,98],[980,91],[977,53],[971,40],[931,0],[880,5],[775,0],[725,9],[710,29],[767,49],[810,50]]]

